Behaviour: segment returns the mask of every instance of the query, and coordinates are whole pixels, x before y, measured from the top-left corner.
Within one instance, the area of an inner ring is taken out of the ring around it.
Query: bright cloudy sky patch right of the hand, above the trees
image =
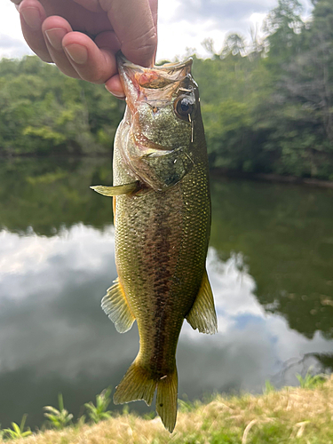
[[[307,17],[311,3],[309,0],[302,3]],[[187,48],[207,57],[209,54],[202,47],[203,40],[212,38],[215,50],[219,52],[230,32],[249,37],[250,28],[257,28],[261,36],[266,14],[275,4],[276,0],[160,0],[157,59],[181,59],[188,55]]]

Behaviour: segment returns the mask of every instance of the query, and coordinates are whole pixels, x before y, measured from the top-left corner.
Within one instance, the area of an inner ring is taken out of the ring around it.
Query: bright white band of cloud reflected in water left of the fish
[[[99,255],[94,254],[96,248]],[[43,284],[45,294],[50,294],[50,285],[53,290],[59,286],[56,263],[69,258],[72,273],[84,275],[87,268],[93,273],[104,266],[105,255],[113,256],[114,250],[113,226],[101,233],[78,224],[52,237],[35,233],[20,236],[7,230],[0,231],[0,289],[4,282],[11,282],[6,287],[11,288],[11,298],[23,300],[28,297],[28,288],[21,285],[21,280],[26,275],[37,277],[49,273],[52,277]],[[42,289],[42,281],[39,281],[38,288]],[[7,291],[0,291],[0,303],[6,297]]]

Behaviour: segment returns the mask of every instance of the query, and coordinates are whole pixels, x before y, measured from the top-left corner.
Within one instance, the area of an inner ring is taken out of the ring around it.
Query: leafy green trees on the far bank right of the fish
[[[210,165],[244,172],[333,177],[333,4],[301,19],[297,0],[279,0],[266,37],[226,37],[211,59],[194,57]]]

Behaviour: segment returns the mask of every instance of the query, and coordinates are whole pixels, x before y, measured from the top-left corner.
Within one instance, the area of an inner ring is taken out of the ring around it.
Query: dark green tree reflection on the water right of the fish
[[[211,245],[241,251],[266,311],[306,337],[333,336],[333,190],[212,183]]]

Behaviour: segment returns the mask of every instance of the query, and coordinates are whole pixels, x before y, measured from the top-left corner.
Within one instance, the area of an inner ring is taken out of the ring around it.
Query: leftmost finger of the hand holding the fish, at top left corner
[[[36,0],[22,0],[19,12],[22,33],[27,44],[40,59],[52,62],[42,31],[42,24],[46,19],[44,7]]]

